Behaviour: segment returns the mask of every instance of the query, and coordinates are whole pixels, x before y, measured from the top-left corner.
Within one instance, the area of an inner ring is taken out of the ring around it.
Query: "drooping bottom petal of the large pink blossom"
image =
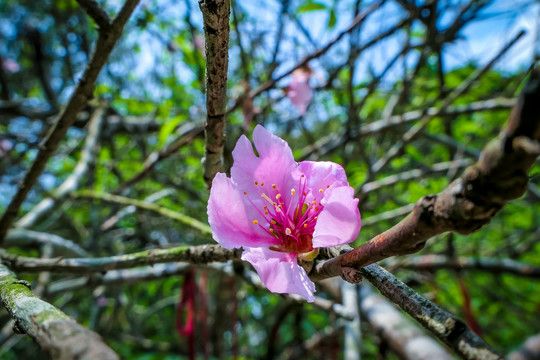
[[[268,290],[274,293],[298,294],[308,302],[315,300],[315,284],[298,265],[295,255],[261,248],[246,249],[242,260],[253,265]]]

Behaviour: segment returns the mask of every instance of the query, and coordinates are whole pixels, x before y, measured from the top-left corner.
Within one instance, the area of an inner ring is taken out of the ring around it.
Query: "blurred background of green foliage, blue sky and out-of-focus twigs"
[[[256,124],[287,140],[298,161],[343,165],[360,199],[355,245],[397,223],[477,159],[540,56],[534,0],[373,3],[231,3],[226,168],[236,140],[251,138]],[[112,17],[122,2],[98,4]],[[365,21],[355,22],[359,14]],[[73,93],[95,28],[74,0],[0,2],[0,211]],[[122,195],[207,222],[204,68],[198,2],[143,1],[94,99],[24,203],[5,243],[9,251],[95,257],[213,243],[170,216],[96,195]],[[418,134],[404,137],[426,116],[433,118]],[[382,263],[505,354],[540,333],[539,271],[519,271],[540,267],[538,172],[535,166],[528,192],[481,231],[443,234],[417,254]],[[44,199],[52,204],[46,212],[37,206]],[[456,267],[455,259],[471,265]],[[509,260],[518,270],[503,266]],[[475,265],[486,263],[495,265]],[[200,358],[345,357],[347,320],[260,289],[251,274],[238,262],[137,268],[113,274],[116,282],[103,274],[20,276],[128,359],[187,358],[189,346]],[[179,296],[189,282],[200,304],[194,339],[178,330],[189,311]],[[320,284],[317,295],[340,303],[340,281]],[[406,358],[362,306],[358,311],[361,358]],[[0,327],[0,358],[46,358],[12,333],[4,309]]]

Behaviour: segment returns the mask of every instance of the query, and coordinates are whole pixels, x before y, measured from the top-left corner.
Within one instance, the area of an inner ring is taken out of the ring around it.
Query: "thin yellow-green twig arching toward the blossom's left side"
[[[119,195],[112,195],[107,193],[96,193],[93,191],[80,191],[77,193],[71,194],[74,198],[90,198],[90,199],[99,199],[107,202],[112,202],[116,204],[122,204],[122,205],[133,205],[139,209],[154,211],[158,214],[161,214],[163,216],[166,216],[168,218],[177,220],[183,224],[186,224],[188,226],[191,226],[192,228],[195,228],[202,232],[203,234],[211,234],[212,229],[210,229],[210,226],[200,222],[199,220],[192,218],[191,216],[184,215],[182,213],[164,208],[163,206],[159,206],[156,204],[152,204],[149,202],[145,202],[142,200],[137,199],[130,199],[124,196]]]

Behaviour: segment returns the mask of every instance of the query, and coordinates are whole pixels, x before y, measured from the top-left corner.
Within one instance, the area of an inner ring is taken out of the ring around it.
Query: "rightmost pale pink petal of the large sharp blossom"
[[[354,189],[350,186],[331,189],[321,204],[324,208],[313,232],[313,247],[331,247],[354,241],[361,227]]]

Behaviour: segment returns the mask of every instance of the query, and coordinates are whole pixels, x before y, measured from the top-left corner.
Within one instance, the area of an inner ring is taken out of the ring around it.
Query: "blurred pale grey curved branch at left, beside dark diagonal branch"
[[[88,135],[84,147],[81,151],[81,158],[73,172],[66,178],[66,180],[60,185],[53,193],[52,197],[43,199],[39,204],[34,206],[26,215],[24,215],[19,221],[15,223],[17,228],[29,228],[36,222],[41,220],[45,215],[48,215],[52,208],[73,190],[76,190],[79,186],[79,182],[84,177],[90,163],[94,158],[94,151],[98,143],[101,125],[103,123],[104,109],[101,107],[96,108],[90,122],[88,124]]]

